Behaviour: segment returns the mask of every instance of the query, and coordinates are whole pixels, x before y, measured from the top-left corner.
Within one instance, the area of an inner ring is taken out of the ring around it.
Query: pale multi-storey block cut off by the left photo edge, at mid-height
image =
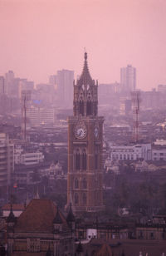
[[[14,168],[14,146],[4,133],[0,133],[0,187],[10,185]]]

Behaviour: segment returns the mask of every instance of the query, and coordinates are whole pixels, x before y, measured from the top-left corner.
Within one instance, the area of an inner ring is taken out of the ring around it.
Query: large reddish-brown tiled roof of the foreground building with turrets
[[[51,233],[56,205],[50,199],[32,199],[17,219],[15,232]],[[63,227],[68,229],[66,219],[61,214]]]

